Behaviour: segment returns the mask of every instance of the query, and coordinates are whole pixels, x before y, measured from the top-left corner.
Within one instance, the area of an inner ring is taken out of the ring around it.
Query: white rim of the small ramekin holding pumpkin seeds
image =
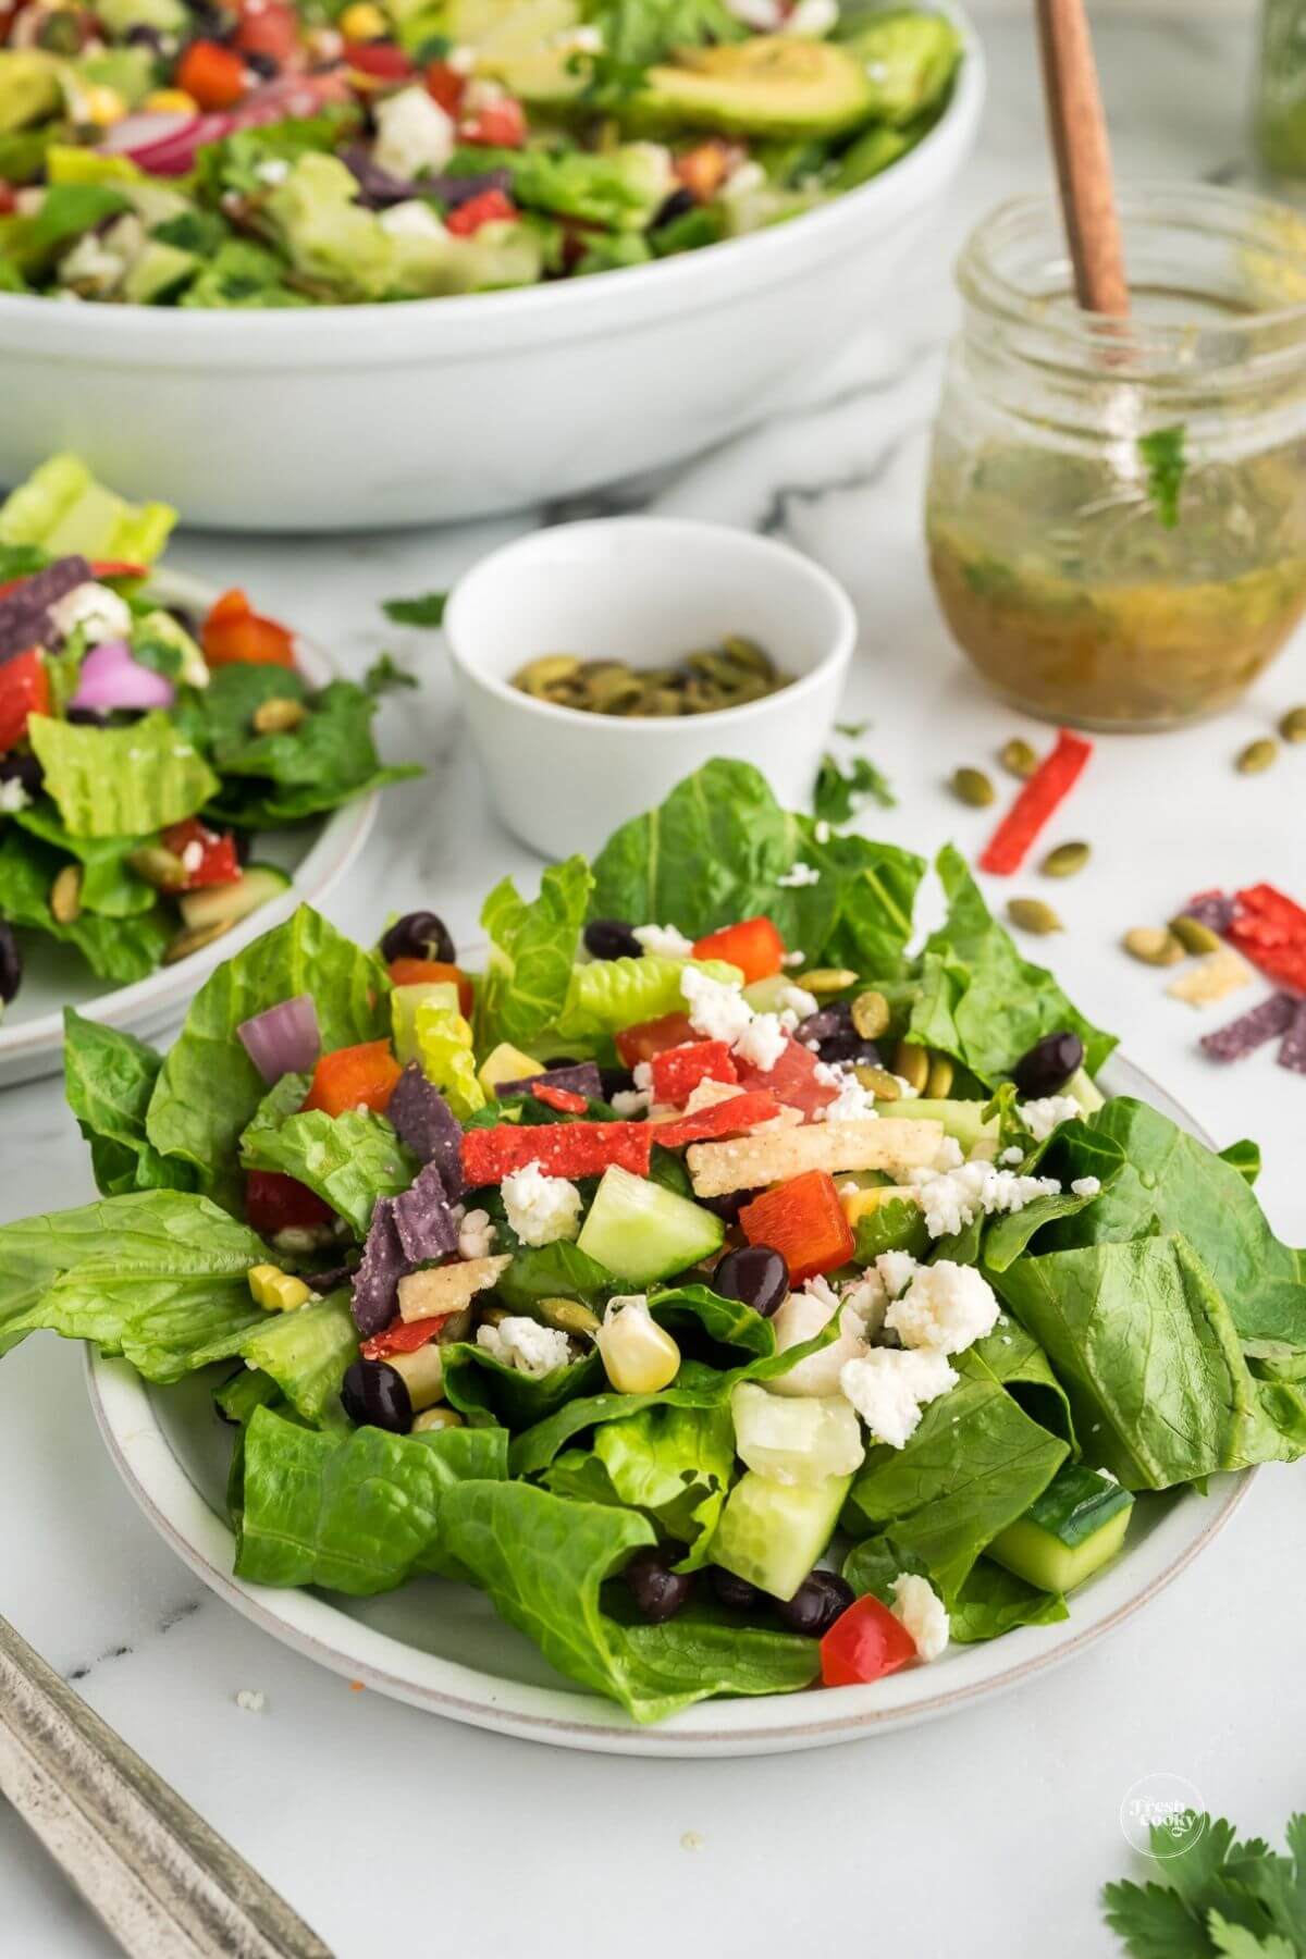
[[[795,550],[793,545],[785,545],[777,537],[758,537],[756,531],[740,531],[730,523],[717,523],[715,519],[703,517],[583,517],[578,523],[554,523],[544,531],[529,531],[525,537],[515,537],[507,545],[499,545],[497,550],[488,552],[488,556],[478,558],[454,584],[448,594],[448,603],[444,605],[444,639],[448,645],[448,656],[454,666],[466,674],[472,686],[480,688],[482,693],[490,693],[499,701],[507,701],[517,713],[525,713],[542,727],[566,725],[585,729],[589,735],[601,735],[611,731],[611,723],[605,715],[589,715],[580,707],[560,707],[554,701],[536,701],[535,695],[523,693],[507,680],[499,680],[497,674],[486,672],[486,668],[476,664],[474,650],[470,645],[470,635],[464,633],[462,615],[470,609],[474,601],[486,601],[493,597],[493,586],[511,574],[517,562],[536,560],[548,564],[554,549],[560,541],[574,539],[583,543],[585,539],[605,541],[611,539],[611,556],[615,562],[621,560],[623,541],[634,539],[636,545],[644,539],[662,541],[668,562],[681,539],[705,539],[719,552],[734,552],[742,564],[746,558],[770,558],[771,564],[783,568],[783,576],[791,578],[793,584],[807,584],[816,590],[830,605],[834,613],[834,635],[830,645],[820,654],[815,666],[809,666],[805,674],[799,674],[781,688],[777,693],[766,693],[760,701],[746,701],[740,707],[715,707],[711,713],[695,715],[693,727],[713,729],[723,721],[730,727],[748,727],[752,721],[766,719],[766,715],[775,713],[779,707],[783,713],[789,709],[799,709],[807,695],[822,686],[832,674],[840,674],[858,645],[858,613],[852,599],[822,564],[815,558],[805,556]],[[572,566],[570,566],[572,568]],[[482,586],[490,588],[482,594]],[[685,735],[685,723],[674,715],[666,721],[648,717],[621,717],[621,731],[632,735],[634,741],[681,741]]]

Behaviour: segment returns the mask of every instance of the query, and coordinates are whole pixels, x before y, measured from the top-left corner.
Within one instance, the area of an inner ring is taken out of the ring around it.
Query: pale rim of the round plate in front
[[[1153,1091],[1179,1109],[1173,1097],[1124,1058],[1118,1056],[1108,1066],[1130,1075],[1130,1091]],[[1187,1115],[1185,1123],[1194,1136],[1210,1144],[1198,1123]],[[1177,1499],[1138,1550],[1126,1552],[1102,1573],[1102,1581],[1130,1569],[1140,1573],[1136,1589],[1112,1610],[1083,1622],[1079,1630],[1073,1616],[1059,1626],[1024,1628],[1026,1638],[1042,1636],[1040,1649],[1014,1663],[999,1657],[989,1669],[983,1669],[981,1657],[977,1661],[981,1677],[965,1687],[916,1693],[916,1683],[928,1683],[930,1673],[914,1667],[871,1687],[840,1689],[836,1696],[805,1689],[766,1698],[705,1700],[668,1722],[644,1728],[597,1695],[540,1689],[484,1675],[376,1632],[315,1593],[276,1591],[233,1577],[231,1528],[210,1508],[174,1456],[141,1377],[125,1362],[100,1360],[94,1348],[88,1348],[86,1385],[110,1459],[161,1538],[219,1599],[284,1646],[333,1673],[448,1720],[554,1747],[654,1759],[779,1753],[850,1742],[956,1714],[975,1700],[1006,1693],[1087,1651],[1149,1604],[1212,1544],[1245,1499],[1255,1475],[1255,1469],[1222,1473],[1212,1479],[1210,1495],[1198,1497],[1189,1491]],[[1147,1559],[1149,1548],[1151,1559]],[[1145,1577],[1143,1565],[1147,1565]],[[1083,1602],[1089,1599],[1091,1591]],[[1022,1632],[1006,1638],[1020,1642]],[[1001,1655],[1003,1644],[1006,1642],[995,1640],[989,1646],[965,1648],[965,1653]],[[830,1706],[830,1716],[816,1714],[818,1706]]]

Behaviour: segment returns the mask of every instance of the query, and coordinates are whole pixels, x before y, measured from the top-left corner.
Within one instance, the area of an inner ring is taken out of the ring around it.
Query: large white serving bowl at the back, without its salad
[[[4,294],[0,482],[74,449],[192,525],[343,531],[521,509],[705,449],[871,321],[899,261],[928,243],[985,92],[979,39],[956,18],[957,86],[903,163],[662,264],[292,311]]]

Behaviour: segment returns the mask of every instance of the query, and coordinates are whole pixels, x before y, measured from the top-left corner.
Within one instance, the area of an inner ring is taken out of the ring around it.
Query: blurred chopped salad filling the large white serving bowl
[[[0,294],[341,306],[652,264],[895,165],[959,47],[840,0],[18,0]]]

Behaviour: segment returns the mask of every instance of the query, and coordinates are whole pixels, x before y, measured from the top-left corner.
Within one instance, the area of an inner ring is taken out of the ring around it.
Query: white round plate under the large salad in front
[[[1112,1060],[1104,1085],[1138,1095],[1202,1142],[1198,1124],[1147,1075]],[[1083,1653],[1179,1577],[1228,1522],[1251,1471],[1216,1475],[1208,1495],[1138,1499],[1126,1552],[1071,1599],[1057,1626],[1024,1626],[985,1646],[952,1646],[932,1665],[871,1687],[807,1689],[758,1700],[705,1700],[642,1728],[615,1702],[572,1687],[505,1626],[484,1593],[417,1579],[380,1599],[274,1591],[231,1575],[235,1540],[223,1489],[231,1430],[210,1379],[149,1387],[121,1360],[88,1350],[90,1401],[114,1463],[145,1516],[221,1599],[276,1640],[378,1693],[450,1720],[556,1747],[617,1755],[770,1755],[822,1747],[952,1714]],[[1157,1659],[1157,1665],[1163,1665]]]

